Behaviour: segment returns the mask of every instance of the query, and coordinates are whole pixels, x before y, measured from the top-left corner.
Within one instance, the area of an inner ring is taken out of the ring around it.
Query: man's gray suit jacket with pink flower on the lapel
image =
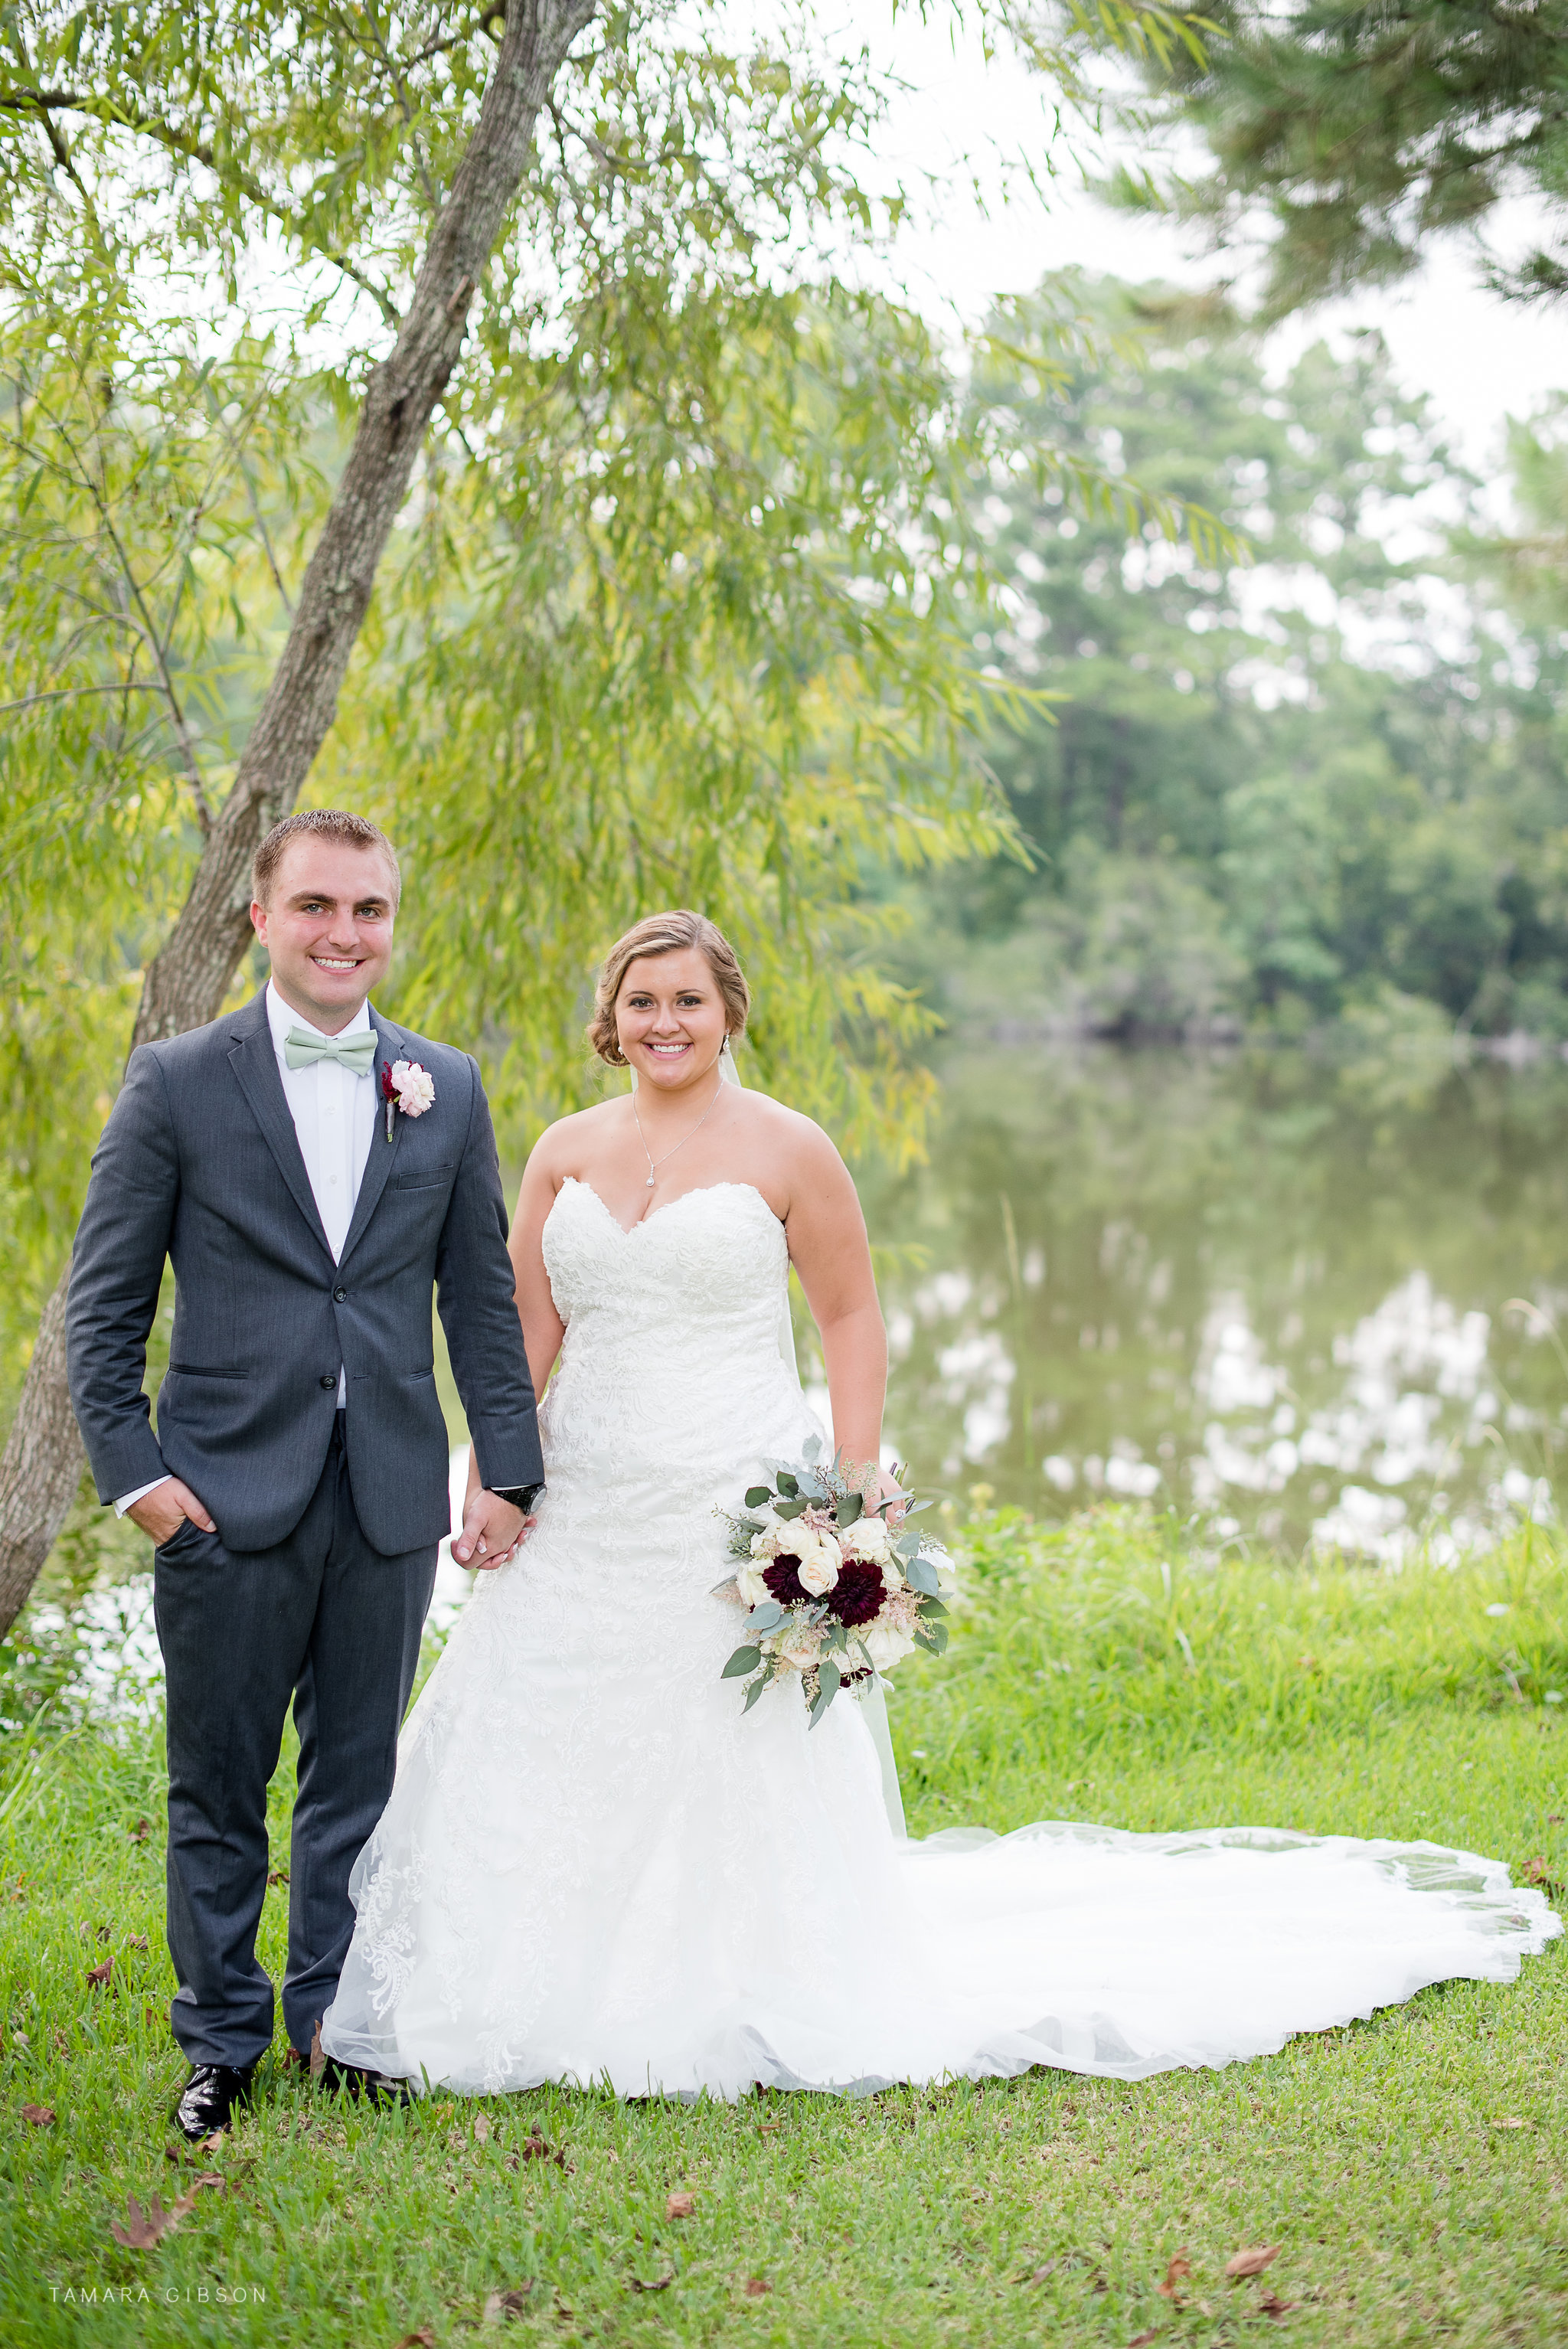
[[[376,1027],[376,1137],[333,1264],[284,1099],[265,996],[131,1052],[92,1160],[70,1266],[70,1400],[99,1499],[174,1473],[230,1550],[265,1550],[305,1513],[347,1372],[354,1510],[383,1555],[448,1532],[446,1426],[430,1292],[486,1485],[542,1478],[507,1257],[495,1135],[467,1052]],[[380,1071],[437,1088],[385,1139]],[[148,1419],[146,1346],[164,1257],[169,1374]]]

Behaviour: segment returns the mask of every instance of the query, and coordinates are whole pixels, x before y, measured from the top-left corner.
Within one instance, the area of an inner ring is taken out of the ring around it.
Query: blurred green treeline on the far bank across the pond
[[[1047,371],[1063,312],[1087,336]],[[1514,423],[1483,503],[1376,334],[1279,381],[1221,301],[1082,277],[993,319],[974,399],[1209,507],[1251,564],[976,482],[1009,604],[976,660],[1070,698],[993,731],[1030,862],[920,890],[906,975],[1005,1034],[1568,1038],[1556,416]]]

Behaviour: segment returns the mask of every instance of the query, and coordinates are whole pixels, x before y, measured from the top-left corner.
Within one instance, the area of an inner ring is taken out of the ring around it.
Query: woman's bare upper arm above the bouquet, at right
[[[887,1330],[876,1299],[866,1217],[847,1165],[819,1128],[805,1125],[791,1158],[784,1231],[822,1334],[833,1442],[845,1459],[876,1463],[887,1400]]]

